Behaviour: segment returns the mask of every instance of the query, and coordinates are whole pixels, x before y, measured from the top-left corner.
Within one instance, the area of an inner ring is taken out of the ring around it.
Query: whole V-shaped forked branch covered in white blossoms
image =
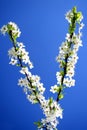
[[[32,103],[39,103],[45,115],[44,119],[35,122],[39,130],[57,130],[58,118],[62,118],[62,108],[60,107],[59,100],[63,98],[63,90],[66,87],[75,85],[74,69],[77,63],[77,52],[81,41],[81,29],[84,24],[81,23],[83,16],[81,12],[77,12],[76,7],[66,14],[66,19],[69,22],[69,33],[66,35],[66,41],[62,43],[59,48],[59,55],[57,61],[60,64],[60,72],[56,73],[57,84],[51,86],[50,91],[57,93],[57,99],[53,97],[45,99],[45,87],[40,81],[38,75],[33,75],[31,69],[34,67],[30,61],[29,53],[25,49],[22,42],[18,42],[17,38],[20,37],[20,29],[14,22],[9,22],[4,25],[0,31],[2,34],[8,34],[13,47],[8,51],[10,57],[9,64],[20,67],[20,73],[23,74],[18,80],[18,85],[23,87],[27,99]],[[76,25],[79,24],[78,32],[75,33]]]

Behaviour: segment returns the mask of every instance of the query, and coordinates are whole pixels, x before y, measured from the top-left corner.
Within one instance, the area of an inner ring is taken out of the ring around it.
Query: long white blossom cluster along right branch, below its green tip
[[[78,34],[73,33],[71,38],[70,34],[67,34],[66,41],[63,42],[59,48],[59,55],[57,57],[57,61],[60,63],[60,68],[63,68],[63,71],[57,72],[56,74],[57,84],[61,85],[61,79],[65,76],[63,79],[64,85],[67,87],[75,85],[73,76],[75,74],[75,64],[78,60],[77,52],[80,46],[82,46],[82,41]]]

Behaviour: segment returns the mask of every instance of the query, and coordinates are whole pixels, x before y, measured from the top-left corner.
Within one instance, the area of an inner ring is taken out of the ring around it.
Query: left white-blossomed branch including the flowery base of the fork
[[[16,37],[14,30],[17,34]],[[29,69],[33,68],[33,64],[30,61],[29,53],[26,51],[23,43],[16,41],[16,38],[19,37],[18,26],[15,23],[9,22],[1,28],[1,32],[2,34],[8,33],[13,42],[13,47],[8,51],[9,58],[11,59],[9,64],[20,66],[20,73],[25,76],[18,80],[18,85],[23,87],[27,99],[32,104],[40,104],[45,115],[45,119],[41,120],[38,128],[55,129],[58,124],[57,118],[62,118],[62,109],[52,98],[45,99],[43,96],[45,88],[43,83],[40,82],[40,77],[30,72]]]

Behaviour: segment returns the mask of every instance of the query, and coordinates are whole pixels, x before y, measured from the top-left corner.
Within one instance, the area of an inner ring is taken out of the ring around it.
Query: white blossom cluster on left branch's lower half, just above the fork
[[[27,99],[32,103],[41,103],[45,88],[43,83],[40,82],[40,77],[32,75],[27,67],[22,68],[20,72],[27,75],[27,77],[18,80],[18,85],[24,88]]]

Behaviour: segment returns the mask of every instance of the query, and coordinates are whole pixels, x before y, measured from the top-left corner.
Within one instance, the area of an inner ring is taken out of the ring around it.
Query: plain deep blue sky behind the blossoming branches
[[[64,109],[59,130],[87,130],[87,1],[86,0],[0,0],[0,27],[13,21],[21,29],[18,41],[24,42],[35,68],[33,74],[41,76],[46,87],[56,83],[59,70],[55,57],[65,40],[68,23],[65,13],[73,6],[84,15],[83,47],[78,53],[76,85],[65,90],[60,101]],[[36,130],[33,122],[42,118],[39,105],[32,105],[23,90],[17,86],[21,77],[19,68],[9,65],[8,49],[12,44],[8,36],[0,35],[0,130]]]

